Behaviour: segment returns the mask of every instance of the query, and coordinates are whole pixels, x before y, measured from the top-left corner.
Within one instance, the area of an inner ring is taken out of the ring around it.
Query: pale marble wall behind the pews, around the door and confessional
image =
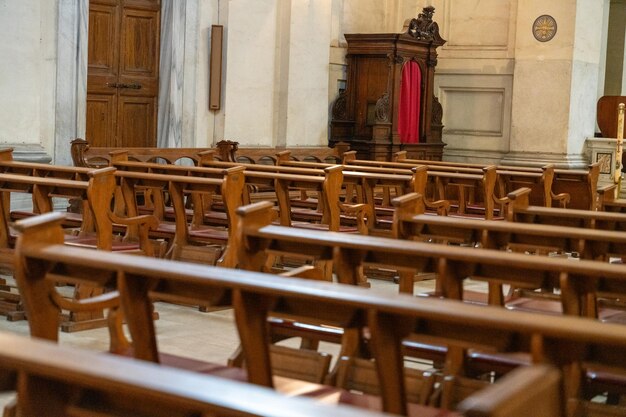
[[[609,1],[163,0],[158,143],[326,143],[345,81],[343,34],[399,32],[432,4],[448,40],[435,78],[446,158],[580,164]],[[69,140],[85,128],[88,4],[0,0],[0,142],[69,163]],[[551,42],[532,37],[540,14],[559,24]],[[224,26],[219,111],[207,104],[214,24]]]

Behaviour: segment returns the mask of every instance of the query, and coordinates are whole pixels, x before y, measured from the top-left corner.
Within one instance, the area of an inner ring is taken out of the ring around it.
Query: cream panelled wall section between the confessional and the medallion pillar
[[[510,147],[517,0],[432,4],[447,40],[435,76],[445,158],[498,162]]]

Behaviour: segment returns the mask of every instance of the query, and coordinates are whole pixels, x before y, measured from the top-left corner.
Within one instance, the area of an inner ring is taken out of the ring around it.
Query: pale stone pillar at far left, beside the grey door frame
[[[0,1],[0,143],[22,159],[52,153],[55,16],[51,1]]]

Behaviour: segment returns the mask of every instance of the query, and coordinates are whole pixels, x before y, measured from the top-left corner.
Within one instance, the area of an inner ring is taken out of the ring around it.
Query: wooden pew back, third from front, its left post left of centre
[[[587,260],[572,262],[560,258],[366,236],[351,236],[349,240],[331,233],[300,236],[288,229],[263,226],[267,225],[263,218],[265,210],[261,204],[247,207],[245,211],[244,208],[240,210],[244,216],[241,227],[244,242],[240,245],[240,259],[242,265],[251,270],[258,267],[257,262],[262,258],[258,252],[271,247],[285,253],[305,251],[320,258],[332,257],[337,278],[344,283],[358,282],[363,266],[369,263],[386,264],[411,271],[434,271],[443,277],[442,295],[454,299],[463,298],[463,282],[468,277],[529,289],[560,285],[562,311],[589,317],[597,317],[595,299],[598,293],[611,292],[617,296],[624,294],[623,279],[626,271],[621,265]],[[247,217],[249,221],[245,220]],[[377,249],[373,249],[374,242]],[[254,248],[256,258],[251,258],[251,250],[246,248]],[[492,296],[490,299],[497,304],[502,298]],[[432,351],[424,351],[424,347],[417,345],[417,350],[432,358],[432,353],[429,353]],[[479,363],[482,359],[477,356],[475,360]],[[493,365],[492,359],[489,362]],[[614,386],[613,389],[623,392],[624,381],[621,380],[617,383],[617,388]]]

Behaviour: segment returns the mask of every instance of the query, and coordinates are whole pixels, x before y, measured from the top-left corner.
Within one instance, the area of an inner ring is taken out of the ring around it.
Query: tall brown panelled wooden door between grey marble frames
[[[156,146],[161,0],[90,0],[92,146]]]

